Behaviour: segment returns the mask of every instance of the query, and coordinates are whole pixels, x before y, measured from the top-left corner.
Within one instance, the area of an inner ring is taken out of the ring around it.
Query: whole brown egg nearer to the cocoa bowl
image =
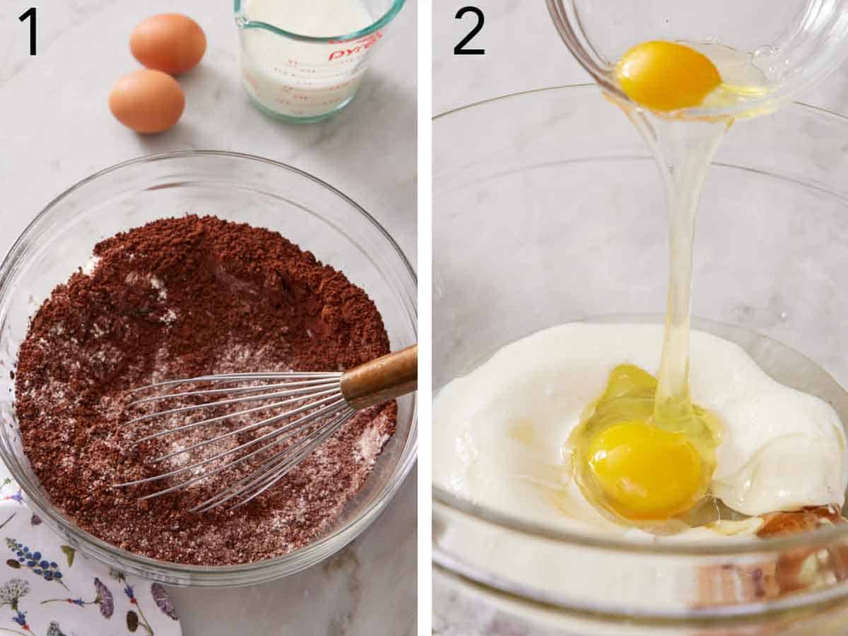
[[[115,118],[136,132],[168,130],[186,108],[180,84],[160,70],[137,70],[121,77],[109,93]]]

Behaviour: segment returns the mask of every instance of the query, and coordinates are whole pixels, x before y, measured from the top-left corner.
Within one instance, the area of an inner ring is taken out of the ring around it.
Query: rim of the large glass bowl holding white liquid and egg
[[[599,88],[593,82],[581,82],[577,84],[562,84],[559,86],[545,86],[542,88],[533,88],[527,91],[511,92],[504,95],[499,95],[494,98],[482,99],[477,102],[464,104],[453,109],[445,110],[433,116],[432,120],[435,124],[439,120],[447,120],[451,115],[465,113],[469,110],[477,109],[480,106],[486,106],[496,103],[505,103],[507,101],[526,98],[527,96],[540,93],[565,93],[570,98],[575,94],[584,98],[590,92],[597,93]],[[848,125],[848,117],[842,114],[834,113],[828,109],[822,109],[813,106],[809,103],[791,102],[787,103],[784,108],[778,111],[778,114],[784,110],[804,111],[810,114],[832,119],[838,122],[841,126]],[[434,137],[437,134],[434,126]],[[760,334],[761,336],[763,334]],[[508,343],[504,343],[505,346]],[[828,374],[829,375],[829,374]],[[835,380],[834,380],[835,382]],[[839,382],[837,382],[839,384]],[[846,423],[848,426],[848,423]],[[433,427],[435,432],[435,427]],[[848,523],[841,526],[821,527],[809,532],[788,535],[784,537],[770,538],[740,538],[734,541],[728,541],[723,544],[693,542],[693,541],[674,541],[664,544],[650,544],[631,542],[626,539],[612,538],[605,536],[589,536],[561,530],[559,528],[550,527],[542,523],[527,522],[510,513],[495,510],[487,505],[482,505],[460,497],[457,494],[449,492],[449,490],[440,487],[437,483],[432,483],[432,499],[435,504],[444,505],[450,510],[459,512],[465,516],[471,516],[479,522],[484,522],[489,525],[500,527],[501,529],[510,530],[512,532],[527,535],[544,541],[555,541],[563,544],[579,545],[594,550],[610,550],[613,552],[629,552],[638,554],[655,554],[660,556],[690,556],[690,555],[711,555],[711,556],[728,556],[728,555],[743,555],[743,554],[773,554],[776,552],[784,552],[796,548],[810,548],[811,546],[825,546],[833,543],[838,539],[848,538]]]

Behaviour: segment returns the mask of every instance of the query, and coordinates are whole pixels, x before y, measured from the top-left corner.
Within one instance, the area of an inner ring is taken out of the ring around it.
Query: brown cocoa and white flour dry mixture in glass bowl
[[[92,263],[33,318],[15,376],[25,454],[54,505],[125,550],[198,565],[282,555],[338,519],[393,434],[397,404],[354,416],[248,505],[192,514],[243,467],[149,501],[138,497],[174,482],[113,488],[186,465],[192,454],[158,466],[148,460],[215,432],[200,427],[134,445],[186,420],[127,426],[144,412],[127,410],[128,391],[209,373],[343,370],[388,350],[365,292],[276,232],[211,216],[157,220],[98,243]]]

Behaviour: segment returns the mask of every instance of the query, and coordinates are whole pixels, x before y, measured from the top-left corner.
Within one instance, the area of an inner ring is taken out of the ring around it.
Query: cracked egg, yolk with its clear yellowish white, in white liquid
[[[636,365],[610,372],[604,393],[568,439],[571,470],[586,499],[626,525],[684,520],[709,492],[721,422],[708,410],[656,408],[656,378]]]

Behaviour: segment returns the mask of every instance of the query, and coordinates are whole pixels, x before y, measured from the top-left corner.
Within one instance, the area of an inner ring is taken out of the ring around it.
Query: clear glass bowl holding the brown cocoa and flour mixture
[[[388,505],[416,460],[416,397],[399,400],[397,432],[326,535],[291,554],[239,566],[184,566],[134,555],[81,531],[51,505],[21,449],[9,371],[31,315],[84,265],[94,244],[148,221],[217,215],[281,232],[364,288],[393,349],[416,342],[416,275],[388,233],[342,192],[301,170],[245,154],[187,151],[98,172],[47,205],[0,267],[0,457],[42,520],[69,544],[123,571],[174,585],[225,587],[298,572],[340,550]]]

